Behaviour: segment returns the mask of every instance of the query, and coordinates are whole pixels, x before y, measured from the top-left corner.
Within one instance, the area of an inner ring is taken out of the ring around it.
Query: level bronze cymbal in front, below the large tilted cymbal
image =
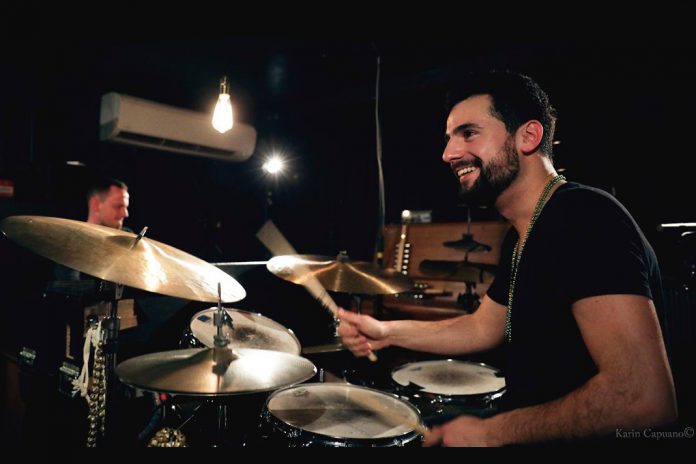
[[[131,358],[116,368],[125,384],[182,395],[234,395],[303,382],[317,369],[308,359],[252,348],[191,348]]]

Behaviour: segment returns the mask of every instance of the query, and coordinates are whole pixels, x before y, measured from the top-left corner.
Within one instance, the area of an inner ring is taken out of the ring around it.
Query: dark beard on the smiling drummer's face
[[[505,140],[500,152],[486,166],[477,161],[479,176],[471,187],[461,186],[459,198],[469,206],[494,206],[501,193],[520,173],[520,160],[512,136]]]

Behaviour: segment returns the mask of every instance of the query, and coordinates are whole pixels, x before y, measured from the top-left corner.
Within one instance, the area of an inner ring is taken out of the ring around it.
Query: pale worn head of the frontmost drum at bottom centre
[[[278,390],[268,399],[267,409],[293,427],[338,439],[397,437],[413,432],[405,424],[420,422],[411,404],[348,384],[304,384]]]

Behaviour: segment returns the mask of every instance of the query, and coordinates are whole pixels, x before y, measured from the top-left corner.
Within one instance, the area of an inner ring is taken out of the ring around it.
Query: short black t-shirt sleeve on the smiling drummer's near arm
[[[642,235],[627,211],[599,194],[578,195],[565,205],[563,262],[558,281],[569,304],[598,295],[652,297]]]

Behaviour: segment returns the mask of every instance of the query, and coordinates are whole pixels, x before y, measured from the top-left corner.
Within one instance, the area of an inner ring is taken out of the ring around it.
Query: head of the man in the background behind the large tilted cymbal
[[[99,179],[87,192],[87,222],[100,226],[123,229],[123,220],[128,217],[130,195],[125,182],[118,179]],[[56,264],[56,280],[80,280],[80,273],[74,269]]]

